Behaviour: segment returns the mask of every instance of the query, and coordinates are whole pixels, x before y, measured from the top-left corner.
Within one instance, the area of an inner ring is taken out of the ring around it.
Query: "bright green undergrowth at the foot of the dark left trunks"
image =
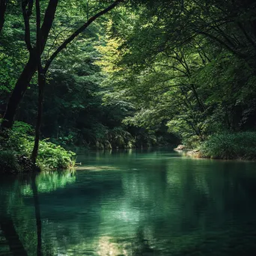
[[[37,164],[31,163],[30,155],[34,146],[33,129],[23,122],[15,122],[8,134],[0,136],[0,172],[21,173],[49,169],[67,169],[75,165],[75,153],[52,142],[41,140]]]

